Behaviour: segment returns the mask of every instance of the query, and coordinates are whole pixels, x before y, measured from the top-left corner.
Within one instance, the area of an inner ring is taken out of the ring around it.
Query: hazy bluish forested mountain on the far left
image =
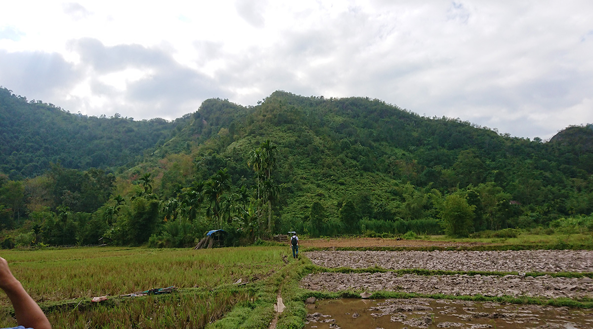
[[[87,117],[0,88],[0,172],[41,175],[50,163],[72,169],[133,166],[168,140],[178,122]]]

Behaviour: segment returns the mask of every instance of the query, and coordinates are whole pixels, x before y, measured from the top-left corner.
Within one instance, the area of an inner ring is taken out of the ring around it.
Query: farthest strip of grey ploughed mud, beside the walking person
[[[593,272],[591,250],[309,251],[315,265],[365,269],[487,272]]]

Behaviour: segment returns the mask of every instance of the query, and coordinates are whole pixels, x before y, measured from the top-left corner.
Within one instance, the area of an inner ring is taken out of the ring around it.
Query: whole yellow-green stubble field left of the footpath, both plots
[[[224,324],[215,321],[233,307],[247,315],[241,323],[251,323],[243,328],[265,328],[273,316],[275,278],[285,271],[288,252],[285,246],[95,247],[3,251],[2,257],[55,328],[205,328]],[[249,283],[235,285],[238,279]],[[117,296],[171,285],[180,289],[168,295]],[[90,301],[102,295],[111,296]],[[13,327],[14,311],[4,294],[0,306],[0,327]]]

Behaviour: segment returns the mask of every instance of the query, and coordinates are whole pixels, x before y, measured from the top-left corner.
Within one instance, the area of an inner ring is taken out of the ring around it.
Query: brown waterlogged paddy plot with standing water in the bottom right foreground
[[[305,328],[593,328],[593,309],[445,299],[328,299],[307,305]]]

